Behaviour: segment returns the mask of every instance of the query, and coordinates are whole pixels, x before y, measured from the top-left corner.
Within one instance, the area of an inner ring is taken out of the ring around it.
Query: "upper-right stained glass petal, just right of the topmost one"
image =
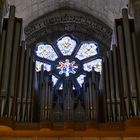
[[[76,58],[83,60],[97,54],[97,46],[94,43],[83,43],[76,55]]]

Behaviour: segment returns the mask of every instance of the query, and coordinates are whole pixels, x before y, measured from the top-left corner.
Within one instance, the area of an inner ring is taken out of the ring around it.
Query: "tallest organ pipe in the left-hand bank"
[[[11,55],[13,48],[13,36],[14,36],[14,23],[15,23],[15,7],[10,7],[10,14],[8,19],[8,27],[7,27],[7,36],[6,36],[6,44],[5,44],[5,57],[3,63],[3,71],[2,71],[2,82],[1,82],[1,94],[6,95],[6,100],[8,96],[8,84],[9,84],[9,76],[10,76],[10,67],[11,67]],[[4,108],[6,110],[5,114],[7,114],[7,108],[5,106],[6,100],[4,103]]]

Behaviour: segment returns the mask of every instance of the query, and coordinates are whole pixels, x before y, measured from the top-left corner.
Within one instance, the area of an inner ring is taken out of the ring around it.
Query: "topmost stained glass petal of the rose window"
[[[69,36],[65,36],[57,42],[57,46],[63,55],[71,55],[76,47],[76,41]]]

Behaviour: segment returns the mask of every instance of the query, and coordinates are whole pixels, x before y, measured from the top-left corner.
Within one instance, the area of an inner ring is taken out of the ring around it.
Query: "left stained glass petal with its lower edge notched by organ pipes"
[[[40,61],[36,61],[36,64],[35,64],[35,69],[36,69],[36,71],[37,72],[39,72],[39,71],[41,71],[41,66],[44,66],[44,70],[46,70],[46,71],[51,71],[51,65],[49,65],[49,64],[47,64],[47,63],[42,63],[42,62],[40,62]]]

